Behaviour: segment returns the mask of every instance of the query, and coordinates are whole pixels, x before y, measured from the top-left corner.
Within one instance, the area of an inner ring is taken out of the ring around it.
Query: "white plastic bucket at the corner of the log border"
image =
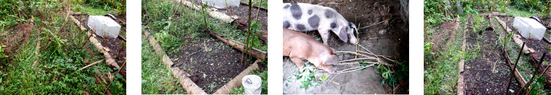
[[[262,79],[256,75],[247,75],[241,79],[245,88],[245,94],[260,94],[262,92]]]

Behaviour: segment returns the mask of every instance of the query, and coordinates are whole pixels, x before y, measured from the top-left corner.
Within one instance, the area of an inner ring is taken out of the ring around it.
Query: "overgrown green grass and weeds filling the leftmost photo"
[[[126,94],[126,87],[123,87],[126,80],[122,79],[122,75],[113,73],[118,68],[99,62],[77,71],[104,59],[104,56],[85,39],[84,31],[80,31],[71,20],[63,25],[66,20],[62,15],[62,4],[58,5],[61,2],[28,2],[36,3],[35,9],[42,14],[29,13],[35,17],[36,24],[25,43],[20,43],[23,38],[13,43],[6,40],[14,38],[0,38],[3,45],[17,45],[10,50],[12,53],[6,54],[8,57],[0,58],[0,94],[106,94],[105,89],[109,89],[111,94]],[[0,34],[9,36],[21,33],[0,31]],[[40,50],[36,47],[39,41]],[[83,44],[84,47],[80,48]],[[38,57],[35,51],[39,51]],[[95,82],[94,77],[100,74],[113,75],[117,81]],[[112,83],[110,87],[109,83]]]

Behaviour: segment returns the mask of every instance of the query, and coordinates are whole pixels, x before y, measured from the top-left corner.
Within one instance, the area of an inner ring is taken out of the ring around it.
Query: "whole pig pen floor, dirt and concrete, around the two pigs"
[[[368,25],[383,22],[388,20],[388,24],[377,24],[372,27],[359,29],[359,34],[355,34],[359,39],[359,45],[368,48],[370,51],[377,55],[393,56],[395,60],[401,62],[407,62],[408,57],[408,41],[409,30],[406,22],[400,19],[399,15],[399,1],[287,1],[284,3],[325,3],[321,6],[331,7],[337,10],[338,13],[343,15],[348,22],[352,22],[357,25],[358,28],[366,27]],[[338,3],[338,4],[333,4]],[[379,31],[385,31],[379,33]],[[312,35],[315,39],[320,38],[320,34],[317,31],[307,31],[306,34]],[[343,43],[336,34],[330,33],[328,46],[332,47],[336,51],[355,51],[356,46],[350,43]],[[284,57],[285,59],[285,57]],[[288,57],[287,57],[288,59]],[[352,59],[349,55],[339,56],[339,60]],[[390,62],[385,60],[386,62]],[[284,63],[290,63],[289,60]],[[392,63],[392,62],[390,62]],[[333,66],[338,70],[344,70],[346,68],[355,65],[339,65]],[[394,68],[397,69],[397,68]],[[398,68],[399,69],[399,68]],[[300,83],[297,81],[284,81],[283,91],[286,94],[386,94],[385,88],[381,85],[379,80],[382,79],[381,75],[373,71],[373,67],[368,67],[365,71],[354,71],[348,73],[341,73],[333,81],[341,83],[343,88],[337,87],[334,83],[322,83],[320,86],[315,86],[307,89],[299,88]],[[298,68],[293,64],[285,64],[283,68],[284,78],[298,71]],[[344,74],[344,75],[343,75]],[[320,75],[319,73],[317,75]],[[329,78],[334,77],[336,74],[329,75]],[[360,76],[356,76],[360,75]],[[346,77],[354,76],[354,77]],[[371,79],[375,78],[375,80]],[[328,79],[329,80],[329,79]],[[366,81],[367,80],[367,81]],[[408,87],[408,79],[402,86]],[[364,84],[365,83],[365,84]],[[346,89],[348,88],[348,89]],[[400,88],[400,87],[398,87]],[[396,91],[399,93],[407,93],[407,89],[402,87],[402,91]],[[387,87],[386,89],[392,89]],[[315,92],[315,93],[314,93]],[[392,93],[392,91],[387,91]]]

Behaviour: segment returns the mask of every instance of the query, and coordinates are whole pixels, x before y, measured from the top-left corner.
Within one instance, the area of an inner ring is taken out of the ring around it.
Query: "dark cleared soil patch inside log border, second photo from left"
[[[179,50],[169,53],[169,56],[175,62],[172,67],[185,71],[207,93],[216,92],[256,60],[246,59],[249,61],[242,63],[241,51],[212,36],[201,36],[200,39],[182,42]]]

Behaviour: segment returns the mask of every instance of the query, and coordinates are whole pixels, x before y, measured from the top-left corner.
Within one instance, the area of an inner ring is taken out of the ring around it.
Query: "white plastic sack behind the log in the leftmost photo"
[[[115,20],[101,15],[89,16],[87,25],[90,29],[95,29],[95,33],[102,37],[117,38],[118,32],[121,31],[121,25],[118,25]]]

